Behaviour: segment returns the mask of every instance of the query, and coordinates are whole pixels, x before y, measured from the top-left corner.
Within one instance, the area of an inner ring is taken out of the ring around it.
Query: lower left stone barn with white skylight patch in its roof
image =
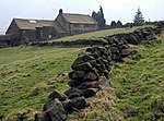
[[[21,43],[28,43],[62,37],[67,32],[57,21],[13,19],[7,31],[8,34]]]

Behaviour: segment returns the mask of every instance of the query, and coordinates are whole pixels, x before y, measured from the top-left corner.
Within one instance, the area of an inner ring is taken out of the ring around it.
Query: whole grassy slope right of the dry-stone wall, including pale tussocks
[[[137,46],[136,55],[116,63],[113,86],[99,92],[101,98],[71,114],[69,121],[163,121],[164,37],[160,39],[162,44]]]

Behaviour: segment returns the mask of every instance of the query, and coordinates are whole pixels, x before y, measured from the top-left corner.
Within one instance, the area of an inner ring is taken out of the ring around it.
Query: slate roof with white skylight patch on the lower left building
[[[66,33],[56,21],[13,19],[20,29],[36,29],[37,27],[54,26],[58,33]]]

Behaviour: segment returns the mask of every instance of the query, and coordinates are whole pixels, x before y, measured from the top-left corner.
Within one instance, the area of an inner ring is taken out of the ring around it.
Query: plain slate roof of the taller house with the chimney
[[[85,14],[62,13],[61,15],[73,24],[98,24],[93,17]]]

